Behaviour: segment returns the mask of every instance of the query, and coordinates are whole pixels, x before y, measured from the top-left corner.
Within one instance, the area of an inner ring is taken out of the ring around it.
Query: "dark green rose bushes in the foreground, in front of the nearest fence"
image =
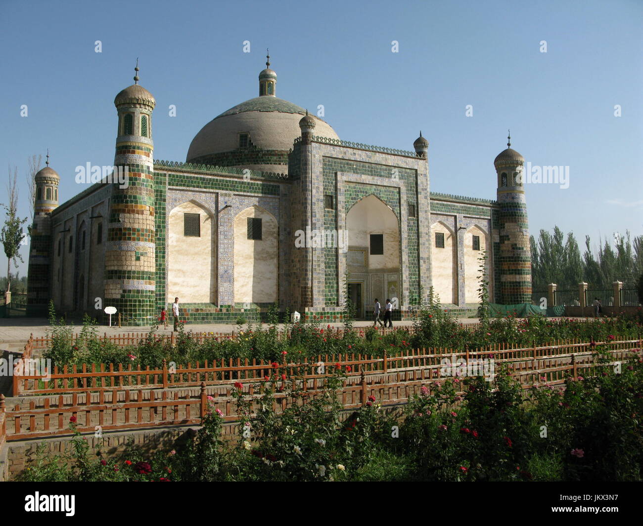
[[[599,360],[600,361],[600,360]],[[222,438],[224,415],[210,399],[201,428],[151,457],[129,444],[94,453],[70,421],[71,450],[44,447],[19,480],[38,481],[640,481],[643,476],[643,360],[620,373],[546,378],[523,390],[502,367],[493,377],[431,381],[403,410],[375,396],[348,416],[338,398],[344,372],[332,368],[315,397],[291,389],[279,369],[255,395],[235,384],[237,440]],[[258,394],[257,394],[258,393]],[[289,403],[282,412],[282,397]]]

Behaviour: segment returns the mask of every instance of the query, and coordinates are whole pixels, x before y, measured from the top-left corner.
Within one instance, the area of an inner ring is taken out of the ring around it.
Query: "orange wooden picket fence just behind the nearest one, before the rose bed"
[[[365,374],[382,374],[392,371],[403,371],[415,367],[440,366],[444,355],[453,355],[455,359],[469,362],[470,358],[493,357],[496,362],[516,360],[537,360],[547,356],[569,355],[592,351],[592,345],[605,346],[612,351],[631,349],[642,346],[641,340],[617,339],[609,342],[578,342],[577,340],[559,340],[550,346],[518,347],[509,344],[494,344],[482,349],[454,351],[445,347],[428,349],[408,349],[407,354],[382,358],[372,355],[340,354],[319,355],[316,360],[303,360],[301,363],[284,362],[273,364],[264,360],[236,358],[213,360],[213,362],[196,362],[196,364],[174,364],[163,362],[159,369],[132,367],[132,364],[84,364],[82,367],[65,365],[62,369],[54,367],[51,374],[14,374],[12,396],[33,394],[59,394],[81,391],[100,391],[110,389],[170,389],[172,387],[197,387],[203,381],[206,385],[219,385],[235,381],[258,380],[266,375],[276,373],[307,378],[323,376],[327,369],[340,364],[341,369],[349,376]],[[490,356],[491,355],[491,356]],[[350,370],[349,370],[350,369]],[[49,371],[48,371],[49,373]]]

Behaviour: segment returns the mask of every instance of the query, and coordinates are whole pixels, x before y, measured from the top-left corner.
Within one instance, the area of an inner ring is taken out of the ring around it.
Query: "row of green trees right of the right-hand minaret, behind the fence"
[[[585,236],[582,256],[574,234],[565,236],[558,227],[553,233],[541,230],[538,242],[534,236],[530,241],[534,290],[545,290],[548,283],[556,283],[559,290],[575,289],[581,281],[592,288],[608,289],[614,281],[635,288],[643,274],[643,236],[615,234],[612,243],[599,241],[596,254],[590,236]]]

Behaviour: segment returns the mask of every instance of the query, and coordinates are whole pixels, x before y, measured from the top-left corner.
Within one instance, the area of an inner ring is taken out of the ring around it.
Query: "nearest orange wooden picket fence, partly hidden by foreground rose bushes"
[[[513,376],[520,379],[523,388],[534,385],[559,385],[566,378],[579,378],[579,376],[592,376],[598,372],[599,367],[614,366],[622,363],[632,355],[640,355],[640,340],[618,342],[619,344],[638,344],[638,348],[619,348],[610,351],[611,359],[608,363],[598,364],[597,353],[581,351],[552,355],[550,351],[554,346],[534,347],[532,349],[512,349],[509,352],[528,351],[530,356],[514,358],[508,362],[509,370]],[[584,344],[577,344],[584,345]],[[471,364],[473,355],[489,356],[498,351],[470,352],[468,360],[466,353],[454,353],[462,358],[464,365]],[[379,377],[368,375],[362,371],[357,378],[345,378],[341,390],[338,392],[344,410],[359,408],[367,403],[369,396],[374,396],[377,403],[388,407],[407,403],[414,394],[426,387],[429,393],[440,389],[444,381],[451,379],[456,382],[464,380],[452,376],[442,376],[440,368],[444,364],[428,364],[430,358],[445,358],[441,355],[412,355],[397,357],[395,359],[410,360],[417,364],[411,368],[394,368]],[[494,358],[494,360],[498,360]],[[506,358],[500,358],[506,360]],[[552,363],[554,362],[554,363]],[[394,375],[392,377],[391,375]],[[281,387],[293,385],[305,392],[308,399],[323,396],[325,389],[322,381],[323,375],[316,378],[292,378],[286,381],[277,381]],[[351,381],[354,380],[354,381]],[[256,412],[262,396],[264,381],[256,380],[242,384],[246,396],[252,403],[252,412]],[[70,435],[69,422],[75,421],[78,431],[96,432],[111,430],[134,430],[136,428],[154,428],[159,426],[199,425],[208,410],[219,409],[223,418],[228,422],[239,421],[239,414],[235,412],[236,403],[232,394],[232,385],[224,389],[214,389],[210,386],[212,394],[208,395],[206,383],[201,381],[199,394],[194,396],[190,390],[182,394],[177,389],[104,389],[92,396],[90,390],[73,392],[71,405],[65,401],[63,394],[53,398],[39,397],[30,401],[16,403],[12,408],[6,408],[6,400],[0,395],[0,446],[5,441],[19,441],[59,435]],[[282,412],[294,403],[302,403],[301,398],[296,398],[285,392],[277,392],[273,401],[275,412]],[[24,407],[24,406],[27,407]],[[100,426],[100,427],[98,427]]]

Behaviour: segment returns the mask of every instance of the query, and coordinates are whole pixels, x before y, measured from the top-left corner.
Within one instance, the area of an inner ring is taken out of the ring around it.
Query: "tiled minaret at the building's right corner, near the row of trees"
[[[507,149],[493,161],[498,174],[497,199],[500,206],[498,222],[500,250],[496,258],[500,302],[505,305],[531,302],[531,247],[527,224],[527,204],[523,184],[525,159]]]

